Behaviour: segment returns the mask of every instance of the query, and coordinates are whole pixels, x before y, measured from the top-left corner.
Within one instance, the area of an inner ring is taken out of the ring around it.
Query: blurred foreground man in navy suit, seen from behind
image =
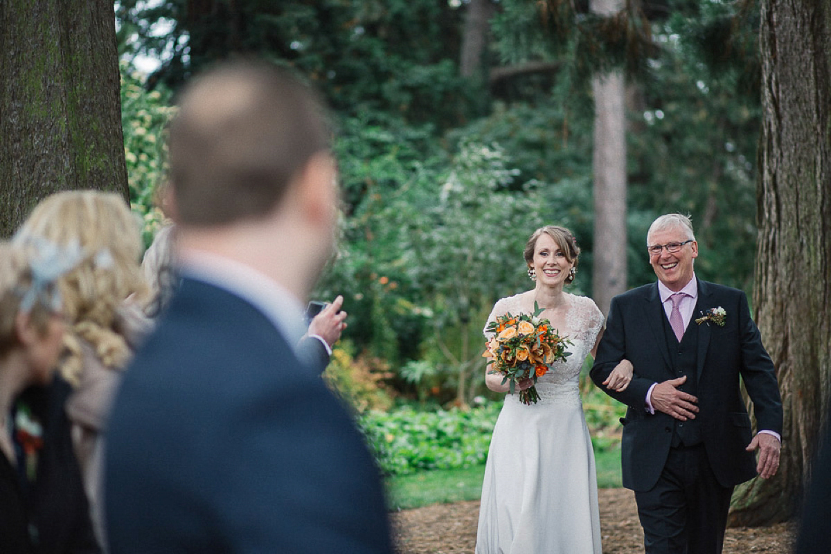
[[[297,347],[332,248],[329,136],[316,96],[273,66],[220,66],[184,91],[182,279],[111,415],[112,554],[391,552],[376,465]]]

